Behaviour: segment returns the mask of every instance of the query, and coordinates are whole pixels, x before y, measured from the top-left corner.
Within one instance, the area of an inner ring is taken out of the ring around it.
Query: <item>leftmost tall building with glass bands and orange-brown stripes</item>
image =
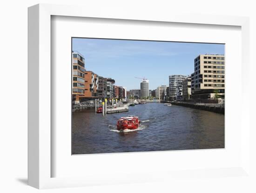
[[[72,96],[76,102],[79,102],[80,96],[83,96],[85,92],[85,62],[84,57],[79,52],[72,52],[72,67]]]

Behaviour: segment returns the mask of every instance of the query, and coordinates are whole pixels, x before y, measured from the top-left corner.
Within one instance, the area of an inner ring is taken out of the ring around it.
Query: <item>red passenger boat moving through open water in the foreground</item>
[[[117,130],[124,129],[138,129],[140,120],[138,116],[129,115],[127,117],[121,117],[116,124]]]

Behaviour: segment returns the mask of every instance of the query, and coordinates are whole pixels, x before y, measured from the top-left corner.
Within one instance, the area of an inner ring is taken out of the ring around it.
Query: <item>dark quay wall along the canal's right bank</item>
[[[217,107],[217,106],[211,106],[211,105],[189,104],[189,103],[175,103],[175,102],[171,102],[171,104],[225,114],[225,108],[223,107]]]

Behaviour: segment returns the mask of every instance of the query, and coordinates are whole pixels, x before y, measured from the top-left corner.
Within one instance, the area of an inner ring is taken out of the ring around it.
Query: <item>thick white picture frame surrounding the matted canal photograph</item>
[[[163,15],[129,13],[125,10],[112,10],[110,15],[107,10],[94,12],[87,7],[81,6],[60,6],[39,4],[28,9],[28,184],[36,188],[55,188],[55,187],[77,187],[97,184],[116,184],[127,183],[124,180],[108,178],[108,174],[101,177],[88,175],[83,177],[52,177],[52,168],[56,167],[52,162],[54,156],[52,145],[54,142],[51,135],[53,120],[51,120],[51,16],[69,16],[86,18],[105,18],[105,19],[129,19],[140,21],[155,22],[175,22],[203,25],[224,25],[240,26],[242,31],[242,97],[246,98],[249,84],[244,79],[249,74],[249,18],[236,16],[219,15],[186,15],[168,13]],[[241,164],[232,168],[195,168],[193,175],[202,176],[207,173],[209,176],[219,176],[220,173],[230,173],[235,176],[247,176],[250,174],[249,168],[249,100],[243,100],[241,107],[241,125],[243,125],[241,135]],[[242,126],[240,126],[242,127]],[[119,154],[119,156],[123,156]],[[145,154],[140,155],[145,156]],[[111,159],[111,158],[110,158]],[[132,178],[133,182],[150,182],[182,178],[182,175],[189,175],[191,171],[151,171],[145,174],[126,174],[127,178]],[[143,178],[144,176],[144,178]],[[224,175],[225,176],[225,175]],[[130,183],[131,181],[128,181]]]

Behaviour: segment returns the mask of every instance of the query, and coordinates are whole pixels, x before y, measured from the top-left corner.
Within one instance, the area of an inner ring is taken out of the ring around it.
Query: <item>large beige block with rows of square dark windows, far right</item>
[[[194,60],[194,87],[192,98],[224,97],[225,57],[219,54],[201,54]],[[217,94],[216,94],[217,93]]]

